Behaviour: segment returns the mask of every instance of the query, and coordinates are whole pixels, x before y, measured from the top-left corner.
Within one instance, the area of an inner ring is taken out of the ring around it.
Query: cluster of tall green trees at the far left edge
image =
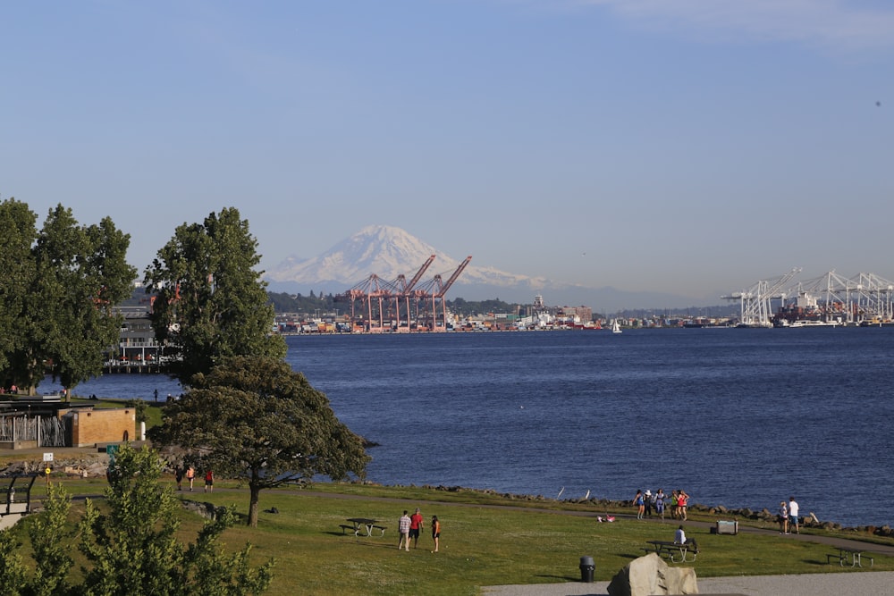
[[[24,203],[0,203],[0,381],[33,390],[48,367],[72,388],[101,374],[105,352],[117,345],[114,306],[137,274],[126,260],[130,236],[109,218],[80,225],[62,205],[39,232],[36,221]]]

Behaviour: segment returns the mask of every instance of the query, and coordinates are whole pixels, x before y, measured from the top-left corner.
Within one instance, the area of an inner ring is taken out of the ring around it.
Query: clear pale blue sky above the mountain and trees
[[[6,2],[0,22],[0,197],[110,215],[140,271],[236,206],[266,269],[375,223],[622,290],[894,279],[890,2]]]

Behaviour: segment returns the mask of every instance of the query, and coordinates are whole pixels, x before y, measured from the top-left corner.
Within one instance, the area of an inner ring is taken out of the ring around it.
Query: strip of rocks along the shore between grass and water
[[[164,456],[163,456],[164,457]],[[173,474],[173,459],[172,456],[167,457],[170,467],[170,472]],[[65,476],[74,476],[79,478],[104,478],[105,470],[108,467],[108,456],[103,452],[97,452],[93,454],[80,454],[79,457],[59,457],[56,458],[51,467],[53,469],[53,474],[58,476],[63,474]],[[33,458],[23,458],[20,461],[15,461],[10,464],[7,464],[3,470],[0,470],[0,476],[9,478],[15,475],[30,475],[30,474],[38,474],[43,475],[44,470],[46,469],[46,463],[37,457]],[[358,481],[360,482],[360,481]],[[370,486],[381,486],[377,483],[372,483],[369,481],[363,481],[363,484],[367,484]],[[401,488],[400,485],[395,485],[394,488]],[[477,493],[482,495],[489,495],[493,497],[499,497],[501,499],[505,499],[507,501],[522,501],[527,503],[568,503],[572,505],[582,505],[590,508],[595,508],[598,511],[611,511],[617,513],[619,511],[633,511],[632,506],[629,501],[620,501],[620,500],[611,500],[611,499],[552,499],[549,497],[544,497],[543,495],[519,495],[511,492],[498,492],[493,491],[491,489],[472,489],[464,486],[434,486],[430,484],[425,484],[422,486],[410,485],[407,488],[422,488],[430,491],[444,491],[444,492],[452,492],[452,493]],[[699,503],[694,503],[689,505],[689,511],[710,515],[710,516],[721,516],[727,519],[732,520],[746,520],[749,522],[755,522],[761,525],[771,525],[775,526],[777,524],[776,514],[772,513],[767,508],[763,508],[760,511],[755,511],[750,508],[726,508],[722,505],[716,506],[708,506],[702,505]],[[671,519],[671,516],[666,516],[667,519]],[[891,537],[894,536],[894,530],[891,529],[889,525],[882,526],[874,526],[874,525],[860,525],[856,527],[846,527],[840,525],[837,522],[832,521],[821,521],[814,516],[811,512],[806,516],[802,516],[802,527],[806,528],[820,528],[822,530],[829,531],[838,531],[838,532],[848,532],[855,534],[864,534],[864,535],[876,535],[883,537]]]

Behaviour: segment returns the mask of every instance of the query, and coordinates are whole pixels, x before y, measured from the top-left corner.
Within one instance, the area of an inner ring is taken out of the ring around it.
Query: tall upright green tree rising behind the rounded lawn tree
[[[259,261],[249,222],[230,207],[182,224],[147,267],[156,338],[175,352],[172,374],[184,384],[225,357],[285,356]]]

